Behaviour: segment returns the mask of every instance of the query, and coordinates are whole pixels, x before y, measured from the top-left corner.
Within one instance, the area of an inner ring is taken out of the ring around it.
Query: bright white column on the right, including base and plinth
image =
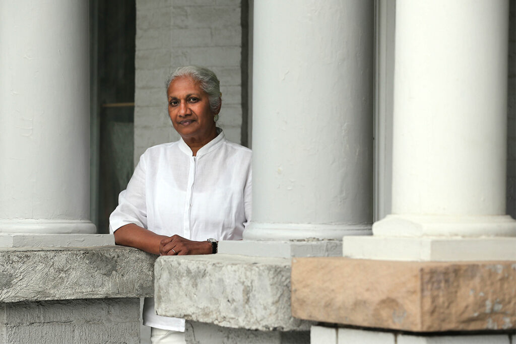
[[[505,215],[508,16],[504,0],[396,2],[393,214],[373,225],[377,244],[345,238],[345,255],[516,257]]]

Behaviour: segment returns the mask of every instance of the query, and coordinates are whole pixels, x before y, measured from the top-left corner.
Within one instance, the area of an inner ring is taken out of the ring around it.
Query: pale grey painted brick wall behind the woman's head
[[[137,0],[135,163],[150,146],[179,139],[167,114],[165,81],[180,65],[198,64],[220,79],[219,126],[240,143],[240,0]],[[247,128],[244,128],[247,130]]]

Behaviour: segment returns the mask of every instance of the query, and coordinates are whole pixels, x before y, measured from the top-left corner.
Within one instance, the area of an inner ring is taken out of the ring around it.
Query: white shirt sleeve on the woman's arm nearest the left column
[[[145,154],[140,157],[133,176],[127,184],[127,189],[120,192],[118,206],[109,216],[109,233],[114,233],[118,228],[134,223],[147,228],[147,204],[146,204],[146,163]]]

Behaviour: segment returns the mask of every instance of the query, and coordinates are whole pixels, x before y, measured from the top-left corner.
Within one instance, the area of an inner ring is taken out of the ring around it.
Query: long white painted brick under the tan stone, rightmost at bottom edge
[[[499,334],[423,337],[400,334],[397,344],[509,344],[509,336]]]

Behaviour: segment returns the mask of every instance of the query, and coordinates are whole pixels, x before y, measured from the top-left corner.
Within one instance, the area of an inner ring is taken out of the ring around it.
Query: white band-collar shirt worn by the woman
[[[238,240],[251,218],[251,188],[251,150],[223,132],[197,156],[182,139],[159,144],[140,157],[109,217],[109,231],[134,223],[190,240]],[[157,316],[152,301],[144,305],[144,325],[184,331],[184,320]]]

